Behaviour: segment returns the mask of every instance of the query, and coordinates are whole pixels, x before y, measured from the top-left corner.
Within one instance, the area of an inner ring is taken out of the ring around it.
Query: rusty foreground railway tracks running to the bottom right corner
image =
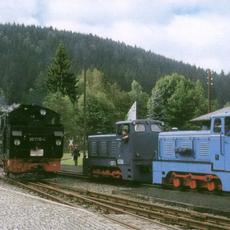
[[[70,205],[73,205],[72,201],[83,204],[87,203],[106,211],[106,213],[134,215],[138,218],[142,217],[146,221],[157,220],[167,224],[180,225],[184,229],[230,229],[230,219],[221,216],[181,210],[165,205],[149,204],[82,189],[73,189],[56,183],[29,183],[27,186],[43,193],[45,191],[45,194],[51,192],[51,194],[55,194],[51,195],[54,199],[61,195],[62,199],[58,199],[63,201],[63,197],[68,197],[71,200]],[[64,203],[69,204],[66,201]],[[129,227],[133,228],[130,225]]]

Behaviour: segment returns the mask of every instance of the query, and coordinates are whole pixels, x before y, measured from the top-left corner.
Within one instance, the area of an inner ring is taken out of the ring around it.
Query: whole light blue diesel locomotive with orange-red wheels
[[[230,113],[211,117],[210,129],[159,134],[153,183],[230,191]]]

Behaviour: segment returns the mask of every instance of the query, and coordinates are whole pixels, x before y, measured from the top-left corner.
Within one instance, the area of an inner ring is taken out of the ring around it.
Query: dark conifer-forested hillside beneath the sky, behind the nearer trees
[[[160,77],[174,72],[199,79],[206,88],[205,70],[150,51],[93,35],[5,24],[0,25],[0,88],[7,103],[42,103],[47,67],[60,42],[70,55],[73,72],[80,73],[85,63],[87,69],[97,68],[109,82],[117,82],[125,91],[136,80],[150,93]],[[222,106],[230,101],[230,77],[214,75],[213,96]]]

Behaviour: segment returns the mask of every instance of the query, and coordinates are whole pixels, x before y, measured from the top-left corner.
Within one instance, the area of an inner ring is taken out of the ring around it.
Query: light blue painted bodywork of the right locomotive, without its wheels
[[[225,135],[225,118],[211,118],[205,131],[174,131],[159,134],[157,159],[153,161],[153,183],[162,184],[169,172],[217,175],[223,191],[230,191],[230,136]],[[220,132],[214,132],[215,119],[221,120]]]

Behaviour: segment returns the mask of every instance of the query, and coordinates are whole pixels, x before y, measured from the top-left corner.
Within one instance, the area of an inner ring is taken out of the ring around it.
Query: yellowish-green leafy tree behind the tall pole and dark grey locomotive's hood
[[[103,74],[97,69],[88,70],[86,73],[86,123],[87,132],[112,131],[115,123],[115,106],[107,96],[106,82]],[[77,104],[77,123],[83,134],[84,124],[84,97],[83,74],[79,76],[79,89],[82,92]]]

